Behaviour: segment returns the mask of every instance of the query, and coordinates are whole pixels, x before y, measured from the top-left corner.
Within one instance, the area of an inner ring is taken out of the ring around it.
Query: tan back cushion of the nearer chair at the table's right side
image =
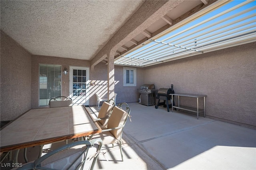
[[[111,116],[108,120],[108,128],[115,128],[124,125],[124,122],[126,120],[128,113],[118,107],[114,107]],[[117,139],[119,139],[122,128],[116,129],[116,130],[110,130],[110,132],[113,134],[113,136]]]

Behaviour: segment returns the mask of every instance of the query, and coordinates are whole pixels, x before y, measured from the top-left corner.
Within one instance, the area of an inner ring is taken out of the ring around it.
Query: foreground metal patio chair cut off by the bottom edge
[[[92,170],[101,152],[102,140],[82,140],[61,146],[18,170]]]

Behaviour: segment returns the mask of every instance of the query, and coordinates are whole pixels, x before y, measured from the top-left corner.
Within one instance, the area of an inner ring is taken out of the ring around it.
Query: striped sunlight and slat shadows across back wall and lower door
[[[119,83],[119,81],[115,81],[114,85]],[[72,92],[70,92],[70,97],[72,99],[72,104],[74,105],[87,105],[86,102],[89,101],[91,97],[93,97],[96,93],[98,93],[100,98],[108,98],[108,81],[104,80],[89,80],[86,82],[86,93],[80,93],[77,96],[73,96]],[[82,89],[81,89],[82,90]],[[96,98],[96,95],[95,95]],[[96,102],[96,101],[95,101]]]

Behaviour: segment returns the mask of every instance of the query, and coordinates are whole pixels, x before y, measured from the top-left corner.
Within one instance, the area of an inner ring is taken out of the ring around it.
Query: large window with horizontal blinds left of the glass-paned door
[[[46,106],[53,97],[61,96],[61,65],[39,65],[39,106]]]

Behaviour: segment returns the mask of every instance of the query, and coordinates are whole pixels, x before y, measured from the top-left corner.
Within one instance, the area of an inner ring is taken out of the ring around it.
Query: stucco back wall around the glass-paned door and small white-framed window
[[[90,67],[90,61],[79,59],[68,59],[62,57],[49,57],[32,55],[32,109],[39,107],[38,94],[39,94],[39,64],[58,64],[68,68],[70,66]],[[68,73],[69,74],[69,73]],[[142,85],[143,71],[137,69],[137,85]],[[99,63],[94,67],[94,70],[90,69],[90,82],[94,85],[90,85],[90,105],[96,105],[96,95],[99,93],[102,98],[108,98],[108,66],[104,63]],[[123,87],[123,67],[115,66],[115,93],[118,93],[116,98],[117,103],[121,102],[134,102],[138,101],[138,87]],[[62,73],[62,96],[69,96],[69,75]]]

